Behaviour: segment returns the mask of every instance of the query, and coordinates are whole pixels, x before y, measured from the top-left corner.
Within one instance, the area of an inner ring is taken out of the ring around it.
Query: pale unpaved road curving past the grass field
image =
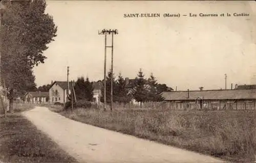
[[[223,162],[131,135],[80,123],[46,107],[23,112],[37,128],[80,162]]]

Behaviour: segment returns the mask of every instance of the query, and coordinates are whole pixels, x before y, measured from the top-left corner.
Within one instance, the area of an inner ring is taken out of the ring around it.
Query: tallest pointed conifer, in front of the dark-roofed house
[[[133,97],[136,101],[140,102],[140,106],[142,106],[142,102],[147,100],[147,90],[145,88],[145,79],[142,69],[139,70],[137,74],[137,78],[135,80],[135,88],[133,89]]]

